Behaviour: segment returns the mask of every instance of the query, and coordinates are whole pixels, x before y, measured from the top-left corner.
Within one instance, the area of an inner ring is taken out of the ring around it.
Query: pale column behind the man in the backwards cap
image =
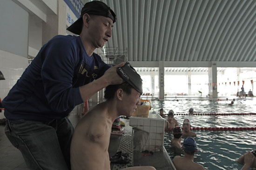
[[[58,0],[58,13],[47,14],[47,22],[43,22],[42,44],[46,44],[56,35],[66,35],[66,4]]]

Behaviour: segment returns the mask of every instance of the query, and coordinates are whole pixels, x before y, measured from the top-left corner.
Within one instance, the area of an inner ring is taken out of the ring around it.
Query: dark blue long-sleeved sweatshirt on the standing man
[[[109,67],[97,54],[87,55],[80,37],[55,36],[43,45],[2,101],[5,117],[64,118],[83,102],[79,87],[101,77]]]

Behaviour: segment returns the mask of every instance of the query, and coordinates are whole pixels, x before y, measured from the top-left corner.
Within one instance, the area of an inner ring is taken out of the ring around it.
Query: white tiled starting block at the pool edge
[[[129,125],[143,131],[141,151],[163,151],[164,120],[158,114],[154,117],[149,114],[148,118],[130,117]]]

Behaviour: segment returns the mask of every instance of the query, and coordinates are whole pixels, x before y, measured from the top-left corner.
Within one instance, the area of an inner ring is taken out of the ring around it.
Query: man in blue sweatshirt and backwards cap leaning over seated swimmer
[[[3,100],[5,133],[31,170],[69,170],[74,128],[67,115],[111,84],[123,82],[94,50],[112,36],[115,13],[101,1],[84,5],[81,17],[44,44]]]

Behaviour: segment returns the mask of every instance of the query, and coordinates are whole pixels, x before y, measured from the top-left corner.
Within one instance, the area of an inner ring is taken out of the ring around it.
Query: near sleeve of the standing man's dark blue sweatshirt
[[[44,49],[41,77],[47,101],[56,113],[73,109],[83,102],[79,88],[72,86],[79,55],[71,41],[62,38],[56,38]]]

